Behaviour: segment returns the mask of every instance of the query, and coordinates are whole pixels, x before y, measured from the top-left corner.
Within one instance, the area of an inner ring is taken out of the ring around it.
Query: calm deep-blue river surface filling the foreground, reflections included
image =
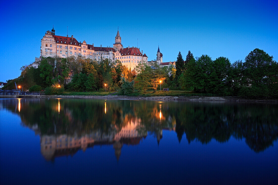
[[[0,184],[278,184],[270,103],[0,99]]]

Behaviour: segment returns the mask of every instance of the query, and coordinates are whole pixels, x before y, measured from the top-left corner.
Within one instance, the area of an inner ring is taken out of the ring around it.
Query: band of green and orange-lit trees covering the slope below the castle
[[[23,66],[21,75],[9,80],[4,89],[15,89],[16,82],[24,90],[45,89],[47,94],[66,91],[120,91],[168,87],[193,93],[218,96],[278,97],[278,65],[263,50],[254,49],[245,62],[230,63],[228,58],[212,60],[208,55],[193,57],[189,51],[185,62],[179,53],[175,66],[161,67],[157,63],[139,63],[134,70],[120,61],[94,61],[84,58],[43,58],[38,68]],[[105,86],[106,84],[106,86]],[[138,94],[138,93],[135,93]]]

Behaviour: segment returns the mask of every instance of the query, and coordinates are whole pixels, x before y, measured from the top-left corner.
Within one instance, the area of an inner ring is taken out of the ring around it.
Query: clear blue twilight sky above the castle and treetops
[[[157,47],[163,62],[208,54],[231,63],[255,48],[278,59],[277,1],[1,1],[0,81],[40,56],[47,30],[94,46],[113,46],[117,28],[124,47],[138,47],[149,60]]]

